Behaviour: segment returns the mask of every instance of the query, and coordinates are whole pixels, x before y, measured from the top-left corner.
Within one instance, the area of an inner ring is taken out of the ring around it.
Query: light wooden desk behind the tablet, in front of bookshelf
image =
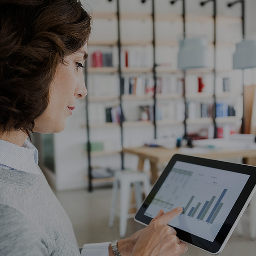
[[[183,154],[180,149],[166,149],[162,147],[135,147],[135,148],[124,148],[124,153],[136,154],[139,157],[138,170],[143,171],[145,159],[150,160],[150,168],[152,175],[152,183],[158,178],[158,163],[168,162],[174,154]],[[211,150],[207,154],[190,154],[194,156],[211,158],[211,159],[227,159],[227,158],[237,158],[243,157],[250,159],[247,164],[255,165],[252,162],[256,158],[256,150]]]

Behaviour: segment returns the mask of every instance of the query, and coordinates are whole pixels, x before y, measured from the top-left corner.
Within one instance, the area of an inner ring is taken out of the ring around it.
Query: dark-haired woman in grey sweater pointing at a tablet
[[[0,0],[0,255],[80,255],[27,137],[61,132],[76,99],[86,96],[82,67],[90,31],[79,0]],[[118,242],[119,253],[184,253],[185,243],[167,225],[181,212],[160,210],[148,227]],[[99,243],[84,245],[81,254],[114,252]]]

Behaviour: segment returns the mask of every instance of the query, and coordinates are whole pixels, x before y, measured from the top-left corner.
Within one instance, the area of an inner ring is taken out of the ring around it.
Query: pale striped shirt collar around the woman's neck
[[[0,167],[40,175],[37,168],[38,150],[28,140],[22,147],[0,140]]]

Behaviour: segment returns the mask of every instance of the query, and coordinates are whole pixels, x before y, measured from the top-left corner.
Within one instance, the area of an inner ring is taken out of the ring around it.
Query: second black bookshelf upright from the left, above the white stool
[[[121,68],[121,34],[120,34],[120,9],[119,9],[119,0],[116,0],[116,7],[117,7],[117,33],[118,33],[118,40],[117,40],[117,46],[118,46],[118,75],[119,75],[119,102],[120,102],[120,109],[121,109],[121,115],[123,116],[123,101],[122,101],[122,84],[123,84],[123,78],[122,78],[122,68]],[[121,147],[123,149],[124,146],[124,128],[123,128],[123,118],[120,118],[120,132],[121,132]],[[124,152],[121,151],[121,169],[124,170]]]

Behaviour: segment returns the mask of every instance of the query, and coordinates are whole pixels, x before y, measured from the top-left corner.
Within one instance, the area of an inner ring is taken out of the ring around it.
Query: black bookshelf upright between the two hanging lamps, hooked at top
[[[200,5],[203,6],[209,2],[213,2],[213,23],[214,23],[214,37],[213,37],[213,46],[214,46],[214,68],[213,68],[213,110],[212,110],[212,121],[214,126],[214,138],[218,137],[218,129],[216,124],[216,15],[217,15],[217,2],[216,0],[207,0],[200,2]]]

